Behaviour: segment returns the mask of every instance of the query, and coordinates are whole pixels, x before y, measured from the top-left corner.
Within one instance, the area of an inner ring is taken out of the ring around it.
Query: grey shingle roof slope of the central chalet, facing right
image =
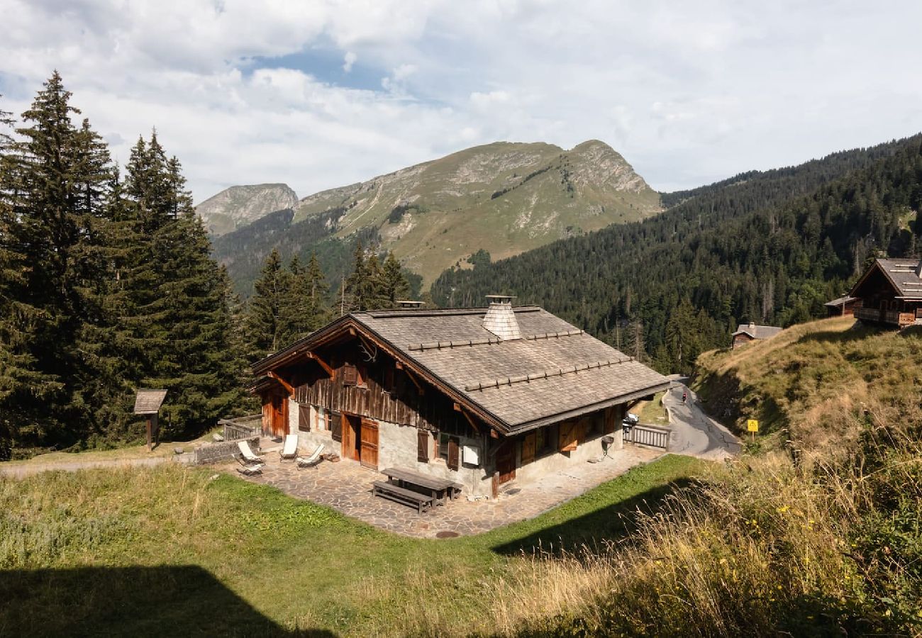
[[[663,375],[541,308],[515,308],[523,338],[504,341],[483,327],[485,313],[353,316],[515,430],[668,386]]]

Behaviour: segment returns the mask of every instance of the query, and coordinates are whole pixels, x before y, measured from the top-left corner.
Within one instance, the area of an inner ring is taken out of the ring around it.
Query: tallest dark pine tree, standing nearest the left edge
[[[31,381],[16,397],[19,434],[30,444],[75,443],[89,420],[83,381],[86,361],[78,347],[82,326],[93,320],[87,290],[100,277],[88,259],[100,241],[94,220],[104,207],[111,172],[108,152],[84,122],[77,129],[71,94],[54,72],[18,128],[20,141],[6,157],[7,241],[28,267],[17,291],[20,311],[30,309]]]

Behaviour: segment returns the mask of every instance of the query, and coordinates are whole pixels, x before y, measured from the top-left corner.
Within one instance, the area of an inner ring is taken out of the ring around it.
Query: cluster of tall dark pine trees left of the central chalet
[[[70,97],[54,73],[0,137],[0,459],[136,439],[140,387],[168,390],[164,437],[243,397],[230,281],[179,160],[141,138],[122,177]]]

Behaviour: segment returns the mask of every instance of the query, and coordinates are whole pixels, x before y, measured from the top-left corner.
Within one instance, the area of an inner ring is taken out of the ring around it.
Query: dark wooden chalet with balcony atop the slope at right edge
[[[922,324],[922,261],[875,259],[848,293],[861,301],[864,323],[904,328]]]

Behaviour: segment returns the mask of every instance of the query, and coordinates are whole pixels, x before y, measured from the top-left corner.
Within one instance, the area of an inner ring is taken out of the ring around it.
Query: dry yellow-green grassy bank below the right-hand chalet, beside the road
[[[869,413],[922,417],[910,405],[920,370],[918,329],[881,330],[843,317],[705,353],[696,383],[712,414],[738,431],[745,419],[759,419],[770,447],[789,436],[804,448],[821,449],[853,441]]]

